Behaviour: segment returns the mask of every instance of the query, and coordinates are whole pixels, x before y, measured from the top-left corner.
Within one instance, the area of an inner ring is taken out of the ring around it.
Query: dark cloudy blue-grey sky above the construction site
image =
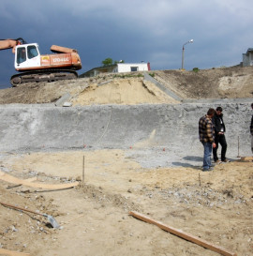
[[[0,39],[77,49],[79,74],[102,61],[149,62],[151,69],[231,67],[253,47],[251,0],[0,0]],[[0,89],[17,73],[0,51]]]

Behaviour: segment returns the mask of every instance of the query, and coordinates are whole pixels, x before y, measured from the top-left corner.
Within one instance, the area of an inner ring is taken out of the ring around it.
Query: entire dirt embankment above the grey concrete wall
[[[195,71],[156,70],[158,83],[180,98],[252,98],[253,67],[214,68]],[[25,83],[0,90],[0,104],[52,103],[69,95],[74,105],[175,103],[142,74],[99,75],[73,81]]]

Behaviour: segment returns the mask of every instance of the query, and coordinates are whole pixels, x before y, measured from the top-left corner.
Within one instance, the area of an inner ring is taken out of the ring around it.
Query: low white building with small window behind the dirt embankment
[[[104,73],[126,73],[126,72],[141,72],[149,71],[150,63],[117,63],[111,66],[92,68],[80,77],[95,77],[99,74]]]

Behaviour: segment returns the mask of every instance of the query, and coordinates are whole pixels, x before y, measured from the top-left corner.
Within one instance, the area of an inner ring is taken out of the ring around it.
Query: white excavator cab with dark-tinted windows
[[[16,47],[15,68],[25,70],[26,68],[36,68],[40,66],[40,53],[37,43],[22,44]]]

